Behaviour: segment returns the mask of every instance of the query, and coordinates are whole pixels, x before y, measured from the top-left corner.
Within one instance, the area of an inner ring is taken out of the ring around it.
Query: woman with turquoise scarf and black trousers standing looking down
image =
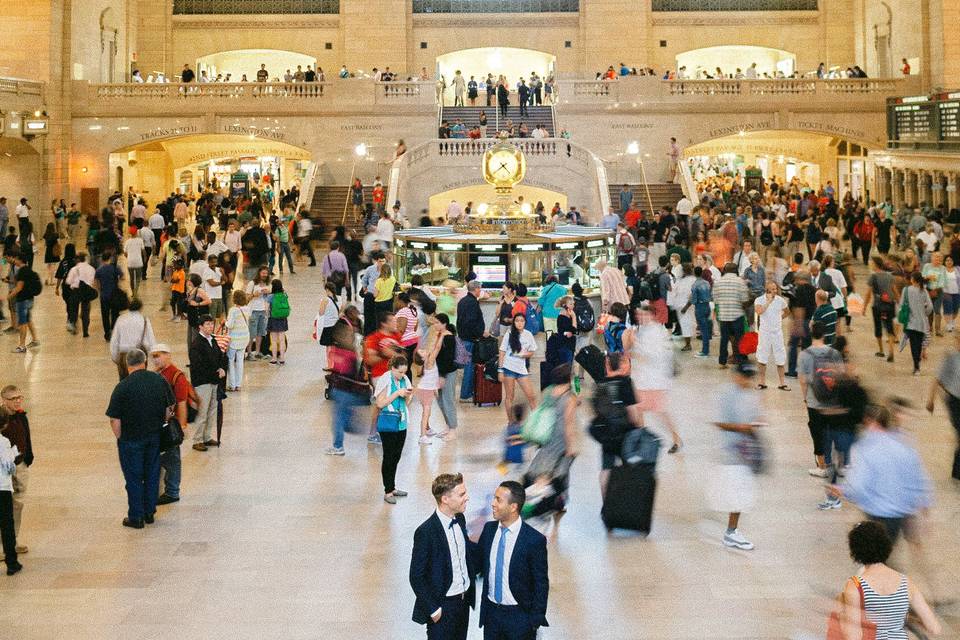
[[[380,465],[383,501],[397,504],[397,498],[408,495],[406,491],[397,489],[396,480],[397,464],[407,440],[409,405],[413,397],[413,388],[407,378],[407,359],[404,356],[394,356],[390,360],[389,371],[377,379],[373,397],[380,409],[377,432],[383,444],[383,460]]]

